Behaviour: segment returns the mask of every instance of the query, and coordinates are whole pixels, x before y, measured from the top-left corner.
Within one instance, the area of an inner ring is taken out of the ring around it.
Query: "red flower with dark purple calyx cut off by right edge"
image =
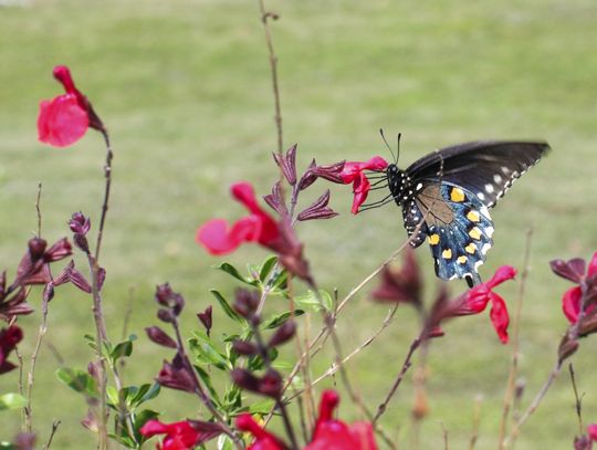
[[[551,262],[551,265],[554,273],[578,284],[567,290],[562,296],[562,310],[564,311],[564,315],[568,322],[574,325],[578,321],[580,310],[583,308],[583,285],[585,286],[588,296],[595,295],[595,292],[593,291],[595,291],[597,286],[597,252],[593,254],[586,272],[586,263],[579,258],[569,261],[555,260]],[[586,313],[595,311],[594,302],[585,303]]]

